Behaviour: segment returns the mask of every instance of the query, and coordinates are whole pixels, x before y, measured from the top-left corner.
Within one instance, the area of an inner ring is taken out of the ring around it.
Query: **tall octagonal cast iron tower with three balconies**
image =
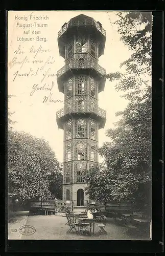
[[[106,122],[106,111],[98,106],[106,79],[106,70],[98,64],[105,40],[101,23],[84,14],[58,32],[60,56],[65,59],[57,72],[64,108],[56,113],[58,127],[64,130],[63,201],[73,200],[77,208],[87,204],[83,176],[98,163],[98,130]]]

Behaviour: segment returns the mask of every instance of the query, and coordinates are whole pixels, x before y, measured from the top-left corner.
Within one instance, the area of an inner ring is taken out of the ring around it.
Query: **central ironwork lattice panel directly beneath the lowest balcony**
[[[76,138],[86,138],[87,137],[86,119],[76,119],[75,120],[75,135],[76,135]]]

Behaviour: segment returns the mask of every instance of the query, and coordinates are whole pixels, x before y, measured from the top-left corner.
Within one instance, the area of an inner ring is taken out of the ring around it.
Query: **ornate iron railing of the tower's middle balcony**
[[[65,66],[63,66],[57,72],[57,78],[63,75],[69,69],[95,69],[101,75],[106,75],[106,70],[102,68],[97,60],[88,59],[88,60],[69,60]]]

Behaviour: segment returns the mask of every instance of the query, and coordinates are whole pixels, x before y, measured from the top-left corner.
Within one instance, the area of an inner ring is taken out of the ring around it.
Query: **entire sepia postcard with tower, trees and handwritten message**
[[[151,240],[150,11],[8,11],[8,239]]]

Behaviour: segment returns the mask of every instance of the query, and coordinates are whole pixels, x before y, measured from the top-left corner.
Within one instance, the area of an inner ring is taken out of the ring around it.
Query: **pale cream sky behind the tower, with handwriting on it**
[[[15,112],[11,117],[16,121],[13,130],[44,138],[60,162],[63,161],[63,130],[58,129],[56,111],[63,108],[63,102],[43,103],[43,97],[48,96],[49,92],[37,91],[32,94],[32,89],[34,84],[41,87],[46,83],[47,87],[51,87],[53,81],[52,98],[63,101],[64,94],[58,91],[56,76],[53,76],[64,66],[64,58],[59,56],[57,34],[64,23],[81,13],[99,21],[106,30],[105,51],[99,58],[99,65],[105,68],[107,73],[120,71],[121,62],[128,59],[131,53],[120,40],[116,27],[112,25],[117,19],[115,11],[14,11],[8,15],[8,94],[15,95],[9,100],[8,107],[10,112]],[[49,19],[35,19],[46,15]],[[27,27],[23,28],[23,24]],[[39,27],[38,24],[47,26]],[[25,41],[25,38],[33,39]],[[40,47],[42,51],[37,53],[36,50]],[[52,63],[44,66],[43,63],[48,58]],[[52,76],[46,75],[42,81],[43,74],[49,67]],[[36,75],[31,75],[32,73]],[[115,91],[115,83],[107,79],[105,90],[99,94],[99,106],[107,112],[105,127],[99,130],[99,146],[109,141],[105,132],[113,128],[114,122],[119,120],[115,113],[124,110],[128,103],[120,97],[120,92]],[[99,157],[99,161],[102,162],[103,159]]]

